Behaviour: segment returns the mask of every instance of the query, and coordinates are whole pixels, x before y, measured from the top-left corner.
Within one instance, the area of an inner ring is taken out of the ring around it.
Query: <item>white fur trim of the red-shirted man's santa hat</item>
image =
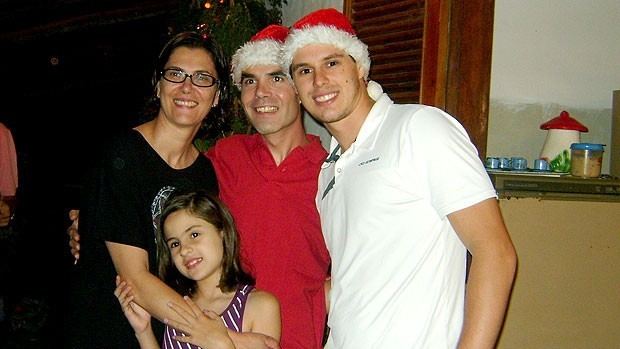
[[[241,83],[241,73],[248,67],[256,65],[281,65],[281,49],[282,44],[276,40],[260,40],[245,43],[235,52],[231,60],[234,84],[239,87]]]

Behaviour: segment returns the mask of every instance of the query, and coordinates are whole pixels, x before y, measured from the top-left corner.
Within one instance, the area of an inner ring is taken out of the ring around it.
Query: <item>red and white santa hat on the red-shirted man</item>
[[[233,82],[239,86],[244,69],[255,65],[281,65],[280,50],[288,28],[271,24],[256,33],[250,41],[241,46],[232,57]]]

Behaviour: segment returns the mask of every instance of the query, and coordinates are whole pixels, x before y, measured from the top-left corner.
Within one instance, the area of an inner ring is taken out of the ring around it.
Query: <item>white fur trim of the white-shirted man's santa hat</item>
[[[339,30],[333,26],[316,25],[301,29],[292,29],[283,46],[282,63],[284,71],[290,72],[295,53],[300,48],[311,44],[328,44],[345,51],[355,59],[364,71],[364,79],[368,79],[370,56],[368,46],[357,36]]]

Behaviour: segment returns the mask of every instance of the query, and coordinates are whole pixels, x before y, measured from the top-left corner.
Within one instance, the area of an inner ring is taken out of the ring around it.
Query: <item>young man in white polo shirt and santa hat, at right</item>
[[[516,254],[465,129],[368,83],[367,46],[335,9],[297,21],[283,61],[333,136],[316,197],[332,258],[327,348],[493,348]]]

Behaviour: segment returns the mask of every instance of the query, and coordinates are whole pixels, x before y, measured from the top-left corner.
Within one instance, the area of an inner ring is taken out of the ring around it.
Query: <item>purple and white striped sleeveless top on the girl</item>
[[[254,289],[254,286],[243,285],[237,288],[237,292],[233,296],[233,299],[228,304],[228,307],[224,310],[220,317],[224,321],[224,325],[236,332],[241,332],[241,325],[243,324],[243,312],[245,309],[245,303],[248,300],[248,295]],[[190,343],[182,343],[174,339],[174,336],[184,336],[183,332],[166,325],[164,331],[164,339],[162,341],[162,349],[202,349],[197,345]]]

